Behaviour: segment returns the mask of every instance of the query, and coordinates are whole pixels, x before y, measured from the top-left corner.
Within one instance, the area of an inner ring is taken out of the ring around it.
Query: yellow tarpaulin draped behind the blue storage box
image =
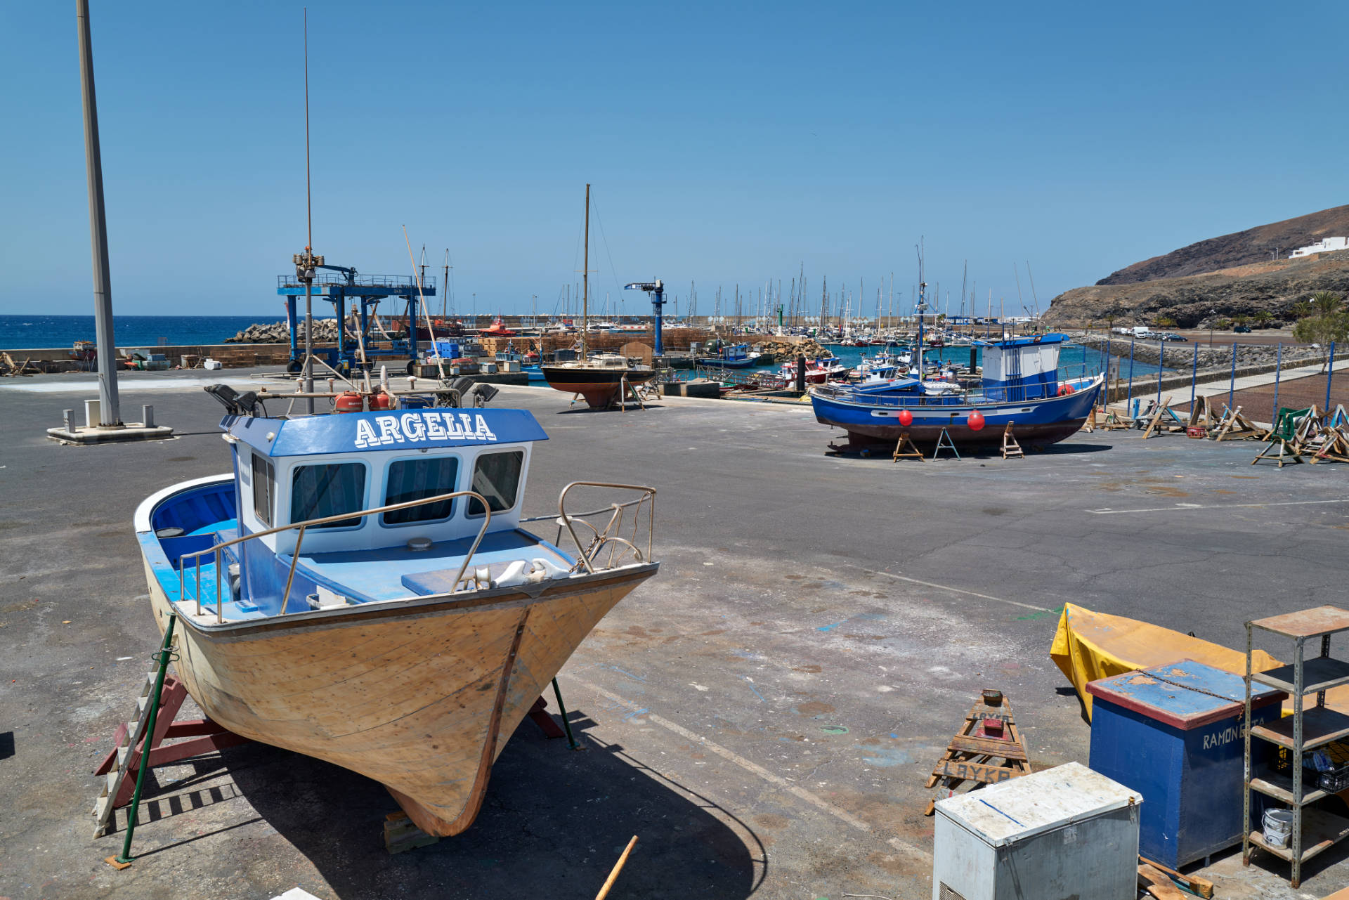
[[[1068,676],[1091,716],[1087,683],[1112,675],[1147,669],[1178,660],[1194,660],[1215,669],[1246,673],[1246,654],[1219,644],[1202,641],[1159,625],[1149,625],[1122,615],[1093,613],[1068,603],[1059,618],[1059,630],[1050,648],[1050,658]],[[1283,665],[1264,650],[1252,657],[1256,672]],[[1349,696],[1345,696],[1349,699]],[[1329,704],[1329,698],[1327,698]],[[1333,706],[1333,704],[1331,704]]]

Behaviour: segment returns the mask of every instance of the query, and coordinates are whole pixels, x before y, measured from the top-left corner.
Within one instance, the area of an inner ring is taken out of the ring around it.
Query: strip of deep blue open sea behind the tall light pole
[[[254,322],[279,322],[267,316],[113,316],[117,347],[220,344]],[[0,349],[70,347],[93,340],[93,316],[0,316]]]

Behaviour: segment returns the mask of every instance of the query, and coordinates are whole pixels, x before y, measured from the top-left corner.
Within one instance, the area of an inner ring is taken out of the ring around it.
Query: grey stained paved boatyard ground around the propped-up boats
[[[220,381],[239,383],[237,372]],[[89,775],[158,644],[131,514],[166,484],[224,471],[220,407],[140,374],[179,439],[46,440],[92,391],[73,376],[0,386],[0,896],[612,897],[929,896],[934,761],[975,694],[1014,704],[1032,762],[1087,760],[1089,729],[1048,658],[1074,602],[1244,646],[1242,622],[1344,603],[1346,470],[1253,468],[1257,447],[1079,434],[1025,460],[900,463],[823,453],[808,406],[664,401],[536,413],[526,514],[571,480],[660,490],[664,567],[564,669],[585,752],[526,721],[476,824],[390,857],[378,784],[251,745],[163,768],[125,872],[92,841]],[[835,433],[836,434],[836,433]],[[1269,645],[1276,654],[1286,648]],[[121,658],[130,657],[130,658]],[[12,734],[12,752],[4,746]],[[12,753],[12,754],[11,754]],[[119,824],[124,816],[119,816]],[[1322,896],[1345,849],[1287,889],[1282,864],[1214,861],[1219,896]]]

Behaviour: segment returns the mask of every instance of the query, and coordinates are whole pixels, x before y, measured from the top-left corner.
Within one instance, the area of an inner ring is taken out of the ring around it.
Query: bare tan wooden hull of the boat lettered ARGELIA
[[[178,677],[236,734],[384,784],[420,828],[459,834],[491,764],[590,630],[658,564],[219,626],[179,615]],[[161,633],[169,599],[146,565]]]

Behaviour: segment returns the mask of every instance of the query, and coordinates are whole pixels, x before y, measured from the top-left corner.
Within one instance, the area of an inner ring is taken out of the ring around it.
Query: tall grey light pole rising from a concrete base
[[[117,359],[112,340],[112,283],[108,273],[108,220],[103,205],[103,155],[98,151],[98,101],[93,88],[89,0],[76,0],[80,32],[80,89],[84,94],[85,167],[89,174],[89,239],[93,250],[93,325],[98,348],[98,425],[121,425]]]

